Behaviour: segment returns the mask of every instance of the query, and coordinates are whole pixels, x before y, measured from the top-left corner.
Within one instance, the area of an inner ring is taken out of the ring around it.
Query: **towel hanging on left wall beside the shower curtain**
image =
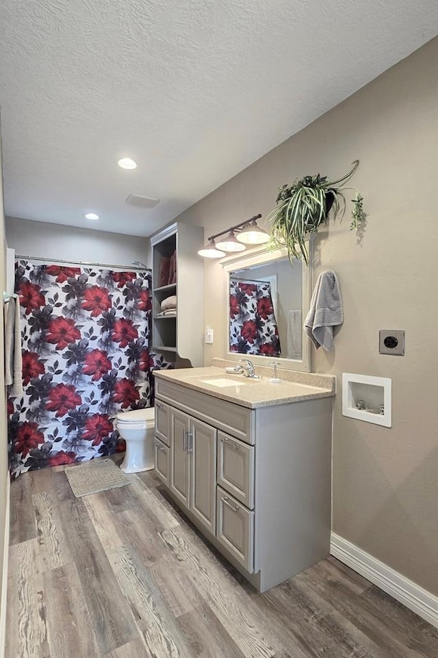
[[[5,384],[11,386],[14,398],[23,395],[23,362],[21,358],[20,300],[10,297],[5,305]]]

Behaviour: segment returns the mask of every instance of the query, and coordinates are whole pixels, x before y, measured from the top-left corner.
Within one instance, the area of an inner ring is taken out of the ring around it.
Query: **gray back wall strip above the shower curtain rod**
[[[8,247],[22,256],[85,260],[130,265],[140,260],[149,267],[149,239],[95,231],[16,217],[6,218]]]

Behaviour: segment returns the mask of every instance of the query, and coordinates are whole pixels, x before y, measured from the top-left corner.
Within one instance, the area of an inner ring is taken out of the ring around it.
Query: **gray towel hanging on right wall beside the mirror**
[[[309,313],[304,321],[305,332],[315,345],[327,352],[335,349],[333,327],[344,322],[341,291],[335,272],[331,269],[320,273],[313,289]]]

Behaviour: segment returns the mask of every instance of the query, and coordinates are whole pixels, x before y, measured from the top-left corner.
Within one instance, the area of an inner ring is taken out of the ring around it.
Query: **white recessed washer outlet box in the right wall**
[[[342,415],[391,427],[391,380],[344,372]]]

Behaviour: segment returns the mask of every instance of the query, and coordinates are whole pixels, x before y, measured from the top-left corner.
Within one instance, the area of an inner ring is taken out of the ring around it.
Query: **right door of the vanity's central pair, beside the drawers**
[[[190,509],[211,533],[216,525],[216,429],[199,420],[190,422],[192,459]]]

